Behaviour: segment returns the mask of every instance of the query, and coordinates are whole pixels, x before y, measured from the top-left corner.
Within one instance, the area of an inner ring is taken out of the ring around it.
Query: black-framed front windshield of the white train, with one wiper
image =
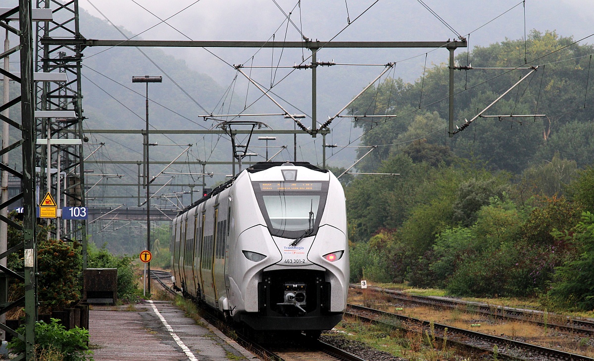
[[[270,233],[298,238],[314,234],[326,204],[328,182],[254,182],[254,191]]]

